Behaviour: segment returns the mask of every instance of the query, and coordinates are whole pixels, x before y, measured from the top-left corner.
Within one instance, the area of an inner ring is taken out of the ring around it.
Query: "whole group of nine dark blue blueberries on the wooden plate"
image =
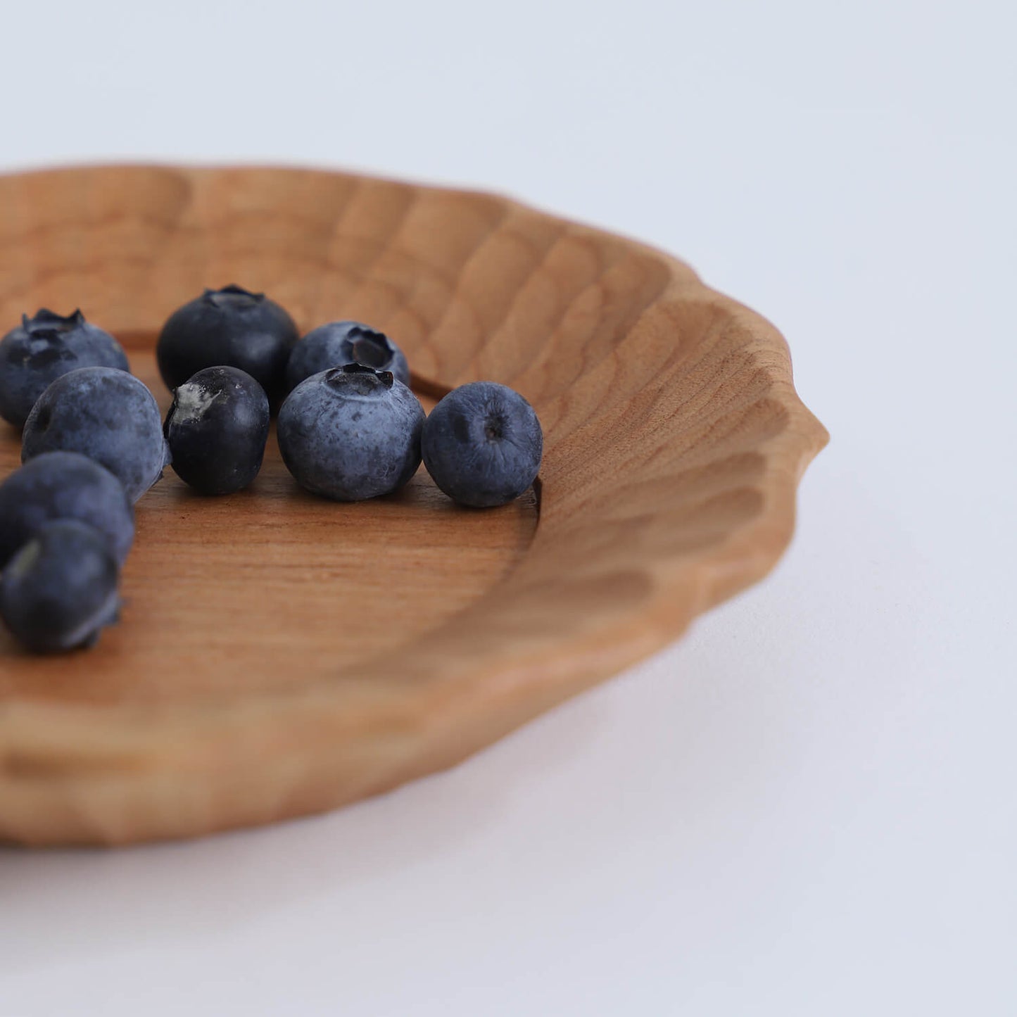
[[[540,423],[512,388],[470,382],[425,415],[383,333],[334,321],[300,339],[279,304],[238,286],[175,311],[156,353],[165,421],[80,311],[40,310],[0,340],[0,417],[21,428],[23,464],[0,484],[0,616],[29,650],[93,645],[119,616],[134,502],[169,465],[203,494],[246,487],[273,410],[287,469],[335,500],[397,491],[422,459],[455,501],[488,507],[540,467]]]

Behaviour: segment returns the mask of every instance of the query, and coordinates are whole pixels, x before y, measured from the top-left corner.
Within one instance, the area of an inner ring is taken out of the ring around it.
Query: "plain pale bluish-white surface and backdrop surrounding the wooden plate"
[[[0,1017],[1017,1013],[1009,0],[8,4],[0,166],[362,168],[649,240],[833,435],[679,644],[338,815],[0,852]]]

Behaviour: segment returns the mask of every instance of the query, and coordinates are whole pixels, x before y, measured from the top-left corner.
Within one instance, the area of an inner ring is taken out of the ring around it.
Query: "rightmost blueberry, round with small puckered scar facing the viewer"
[[[460,504],[518,498],[540,469],[544,437],[533,407],[494,381],[471,381],[431,410],[421,440],[434,483]]]

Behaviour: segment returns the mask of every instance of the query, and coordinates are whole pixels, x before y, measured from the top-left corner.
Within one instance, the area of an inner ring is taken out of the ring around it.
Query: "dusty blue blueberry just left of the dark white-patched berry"
[[[39,397],[24,422],[21,462],[58,448],[102,463],[132,501],[169,462],[155,397],[136,377],[112,367],[79,367]]]

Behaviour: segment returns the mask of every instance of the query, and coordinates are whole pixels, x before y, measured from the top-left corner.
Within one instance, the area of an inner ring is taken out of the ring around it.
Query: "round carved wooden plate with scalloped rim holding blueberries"
[[[185,837],[332,809],[447,767],[674,639],[786,546],[826,441],[781,336],[680,261],[500,197],[341,173],[104,167],[0,178],[0,332],[80,306],[162,404],[155,337],[206,286],[302,330],[360,318],[418,392],[520,390],[536,493],[454,507],[253,487],[137,507],[97,649],[0,636],[0,838]],[[18,437],[0,434],[0,475]]]

